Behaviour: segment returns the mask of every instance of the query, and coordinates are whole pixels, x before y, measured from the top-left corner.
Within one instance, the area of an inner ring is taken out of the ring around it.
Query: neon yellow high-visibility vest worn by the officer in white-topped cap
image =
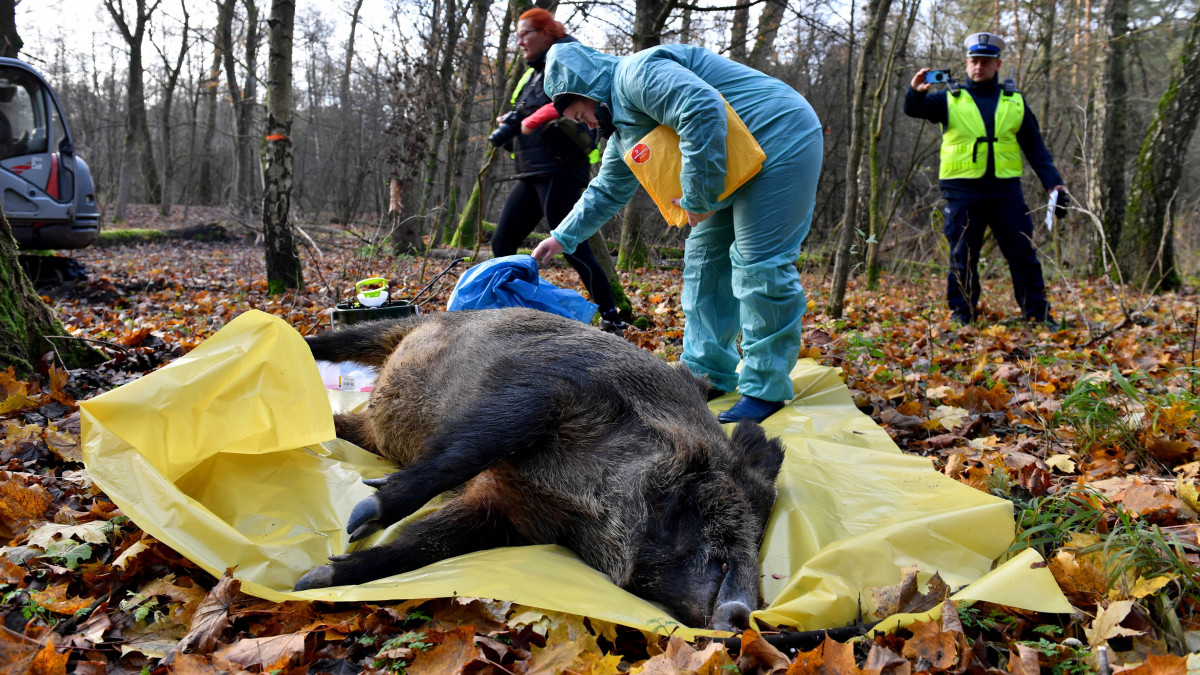
[[[937,177],[983,178],[988,168],[988,148],[996,161],[996,178],[1021,175],[1021,147],[1016,130],[1025,119],[1025,97],[1019,92],[1001,92],[996,102],[996,136],[988,137],[988,129],[979,114],[979,106],[970,94],[948,95],[946,131],[942,133],[941,168]]]

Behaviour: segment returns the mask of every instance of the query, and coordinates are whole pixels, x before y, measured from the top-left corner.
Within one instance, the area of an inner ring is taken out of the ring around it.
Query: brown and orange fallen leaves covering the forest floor
[[[802,354],[839,366],[905,452],[1010,498],[1016,546],[1042,551],[1074,616],[947,604],[940,619],[857,643],[785,644],[761,627],[686,644],[490,599],[275,604],[240,593],[91,484],[77,401],[186,353],[245,310],[311,334],[355,280],[386,276],[394,297],[409,298],[448,264],[371,257],[361,238],[336,233],[316,240],[308,287],[274,298],[250,240],[91,249],[76,256],[85,281],[43,287],[71,331],[112,358],[68,372],[48,356],[29,381],[0,375],[0,673],[1183,673],[1200,651],[1196,297],[1123,298],[1102,281],[1055,286],[1070,321],[1057,331],[1008,316],[1003,276],[988,281],[985,322],[968,327],[942,309],[941,280],[852,287],[841,319],[810,305]],[[577,286],[565,267],[544,275]],[[455,277],[426,294],[425,311],[444,307]],[[648,322],[626,339],[677,359],[679,271],[622,281]],[[804,281],[810,298],[827,297],[815,275]],[[938,607],[950,591],[908,571],[871,590],[876,613],[864,621]]]

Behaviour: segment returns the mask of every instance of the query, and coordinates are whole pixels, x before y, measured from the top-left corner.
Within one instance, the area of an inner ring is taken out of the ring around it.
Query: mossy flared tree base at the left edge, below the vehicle
[[[0,209],[0,369],[12,366],[18,377],[37,370],[42,354],[58,348],[68,368],[91,365],[102,354],[78,340],[47,340],[67,335],[50,307],[42,301],[17,259],[17,240]]]

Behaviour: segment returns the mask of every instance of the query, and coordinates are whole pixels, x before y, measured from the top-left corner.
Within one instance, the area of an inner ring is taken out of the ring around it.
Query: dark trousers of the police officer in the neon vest
[[[1013,275],[1013,294],[1026,318],[1045,319],[1050,305],[1045,297],[1042,263],[1033,250],[1033,222],[1022,197],[948,199],[946,238],[950,244],[950,271],[946,297],[950,311],[960,319],[976,318],[979,304],[979,249],[983,235],[991,228],[1000,251]]]

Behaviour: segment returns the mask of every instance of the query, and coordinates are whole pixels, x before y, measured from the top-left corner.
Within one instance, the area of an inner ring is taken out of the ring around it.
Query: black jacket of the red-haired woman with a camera
[[[565,35],[554,43],[562,44],[564,42],[578,42],[578,40]],[[541,82],[542,68],[545,66],[545,54],[529,62],[529,67],[534,72],[524,83],[524,86],[521,88],[521,91],[517,92],[516,104],[512,108],[516,112],[517,121],[526,119],[546,103],[550,103],[550,96],[546,96],[546,90],[542,88]],[[516,135],[511,147],[517,165],[515,178],[569,173],[576,175],[581,181],[587,183],[592,175],[587,157],[564,151],[568,149],[565,143],[569,143],[565,138],[542,138],[544,132],[547,135],[560,133],[557,130],[547,131],[552,124],[546,123],[535,129],[533,133],[518,132]],[[593,133],[592,136],[594,139],[595,135]],[[559,157],[566,157],[566,160],[564,161]]]

